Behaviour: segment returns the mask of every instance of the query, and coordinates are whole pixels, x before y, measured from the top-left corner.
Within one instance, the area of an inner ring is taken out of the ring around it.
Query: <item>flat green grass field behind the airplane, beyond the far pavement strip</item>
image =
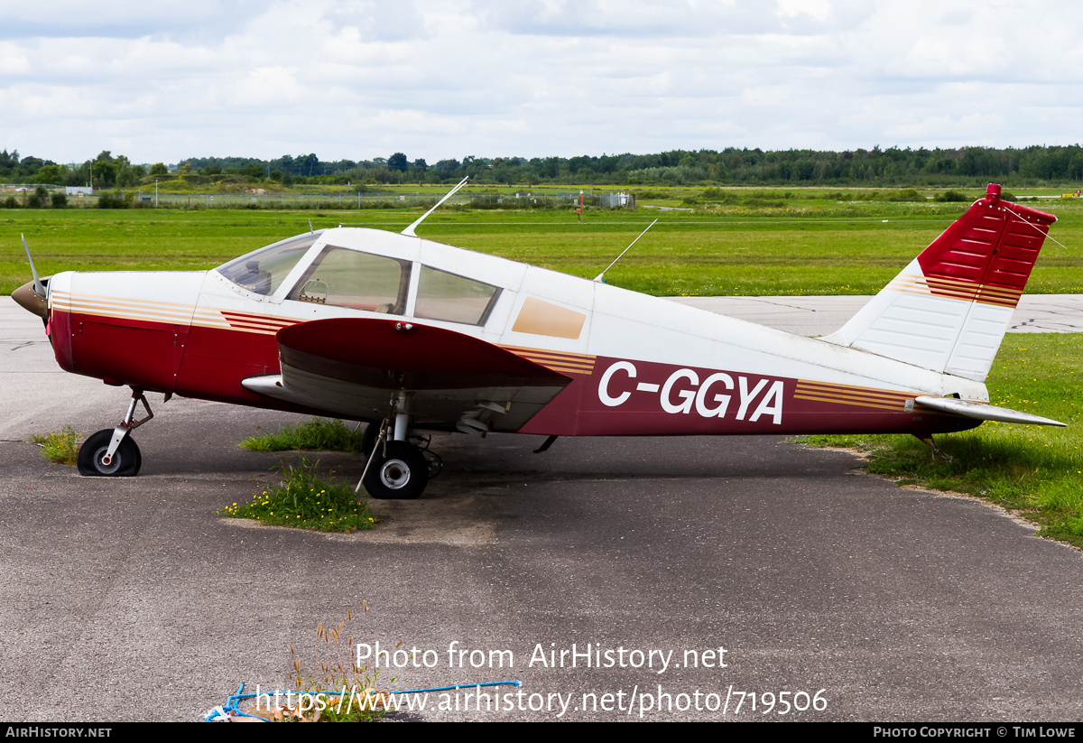
[[[824,203],[657,211],[443,211],[419,234],[577,276],[595,276],[651,220],[658,223],[606,281],[657,296],[875,294],[966,205]],[[1083,204],[1043,203],[1060,221],[1028,291],[1083,292]],[[419,211],[170,209],[0,210],[0,294],[29,279],[19,233],[38,270],[196,270],[313,225],[399,231]],[[886,222],[884,220],[887,220]]]

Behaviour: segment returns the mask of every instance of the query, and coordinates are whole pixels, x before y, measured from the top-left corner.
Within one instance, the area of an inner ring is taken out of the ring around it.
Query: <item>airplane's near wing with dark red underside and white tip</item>
[[[277,333],[282,374],[257,392],[341,417],[379,420],[400,393],[415,429],[522,428],[572,380],[473,336],[401,320],[334,317]]]

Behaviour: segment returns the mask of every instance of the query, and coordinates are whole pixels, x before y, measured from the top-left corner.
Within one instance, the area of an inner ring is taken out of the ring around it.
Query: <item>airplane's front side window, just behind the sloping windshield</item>
[[[401,315],[409,270],[408,261],[327,246],[288,299]]]

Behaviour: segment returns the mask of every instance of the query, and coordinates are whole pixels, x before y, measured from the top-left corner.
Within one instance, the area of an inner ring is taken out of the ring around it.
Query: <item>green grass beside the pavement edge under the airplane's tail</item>
[[[1083,336],[1009,334],[989,376],[993,405],[1067,428],[987,421],[937,436],[944,461],[913,436],[807,436],[815,446],[869,453],[866,469],[942,491],[979,496],[1041,526],[1042,536],[1083,547]]]

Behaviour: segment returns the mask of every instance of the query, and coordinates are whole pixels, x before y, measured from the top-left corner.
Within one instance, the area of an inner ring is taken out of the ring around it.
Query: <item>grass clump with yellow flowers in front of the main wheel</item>
[[[218,511],[221,517],[253,519],[264,524],[311,529],[319,532],[354,532],[375,529],[379,514],[358,501],[353,488],[319,477],[319,461],[298,453],[297,464],[283,460],[282,479],[269,483],[246,504]]]

